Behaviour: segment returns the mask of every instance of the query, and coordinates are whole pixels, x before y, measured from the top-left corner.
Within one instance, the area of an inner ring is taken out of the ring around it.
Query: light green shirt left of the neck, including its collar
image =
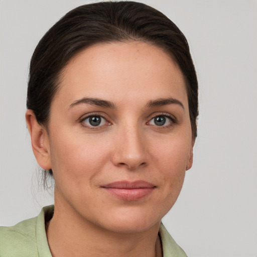
[[[45,231],[45,216],[53,211],[53,206],[42,209],[39,216],[24,220],[14,226],[0,227],[0,257],[39,256],[39,252],[50,250]]]

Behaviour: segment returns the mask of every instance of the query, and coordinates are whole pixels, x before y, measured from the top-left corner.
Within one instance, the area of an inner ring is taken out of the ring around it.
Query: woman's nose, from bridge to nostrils
[[[115,138],[112,154],[112,163],[115,166],[136,170],[147,165],[147,144],[143,132],[136,125],[121,127]]]

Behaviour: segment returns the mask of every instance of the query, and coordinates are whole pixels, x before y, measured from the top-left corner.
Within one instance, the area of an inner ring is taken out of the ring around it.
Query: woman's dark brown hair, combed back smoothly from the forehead
[[[163,49],[179,65],[186,80],[192,135],[196,138],[198,83],[187,40],[164,14],[142,3],[89,4],[60,19],[40,40],[32,56],[27,108],[47,127],[59,76],[68,61],[91,45],[131,40]]]

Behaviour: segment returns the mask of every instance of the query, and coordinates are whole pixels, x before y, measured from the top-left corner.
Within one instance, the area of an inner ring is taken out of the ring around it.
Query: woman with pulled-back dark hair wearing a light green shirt
[[[55,206],[0,230],[2,256],[186,256],[161,223],[193,162],[184,35],[134,2],[66,14],[33,54],[26,120]]]

